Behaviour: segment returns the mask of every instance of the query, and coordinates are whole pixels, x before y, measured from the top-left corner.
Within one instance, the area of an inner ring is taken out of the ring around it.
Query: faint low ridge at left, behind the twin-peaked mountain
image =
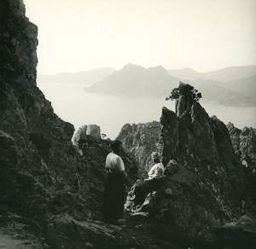
[[[113,68],[102,67],[86,72],[61,72],[55,75],[38,75],[38,82],[84,84],[89,86],[102,81],[103,78],[106,78],[113,72],[115,72]]]

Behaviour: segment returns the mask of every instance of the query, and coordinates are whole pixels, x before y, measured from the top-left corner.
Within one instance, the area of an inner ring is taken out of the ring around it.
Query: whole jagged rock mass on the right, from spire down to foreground
[[[175,228],[170,236],[185,237],[187,246],[222,248],[229,242],[219,229],[253,210],[253,194],[247,191],[247,175],[226,125],[210,118],[198,102],[184,105],[179,101],[184,96],[177,101],[176,113],[164,107],[160,119],[166,177],[150,191],[138,188],[137,182],[125,206],[135,213],[146,211],[149,217]],[[148,193],[139,205],[136,189]]]

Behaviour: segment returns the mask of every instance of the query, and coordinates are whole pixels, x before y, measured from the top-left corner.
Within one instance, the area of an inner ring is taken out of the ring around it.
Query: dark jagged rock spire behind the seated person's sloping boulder
[[[164,164],[176,159],[210,185],[212,194],[223,200],[233,214],[240,213],[242,200],[247,200],[244,175],[224,123],[210,118],[199,103],[186,109],[180,118],[163,108],[160,122]]]

